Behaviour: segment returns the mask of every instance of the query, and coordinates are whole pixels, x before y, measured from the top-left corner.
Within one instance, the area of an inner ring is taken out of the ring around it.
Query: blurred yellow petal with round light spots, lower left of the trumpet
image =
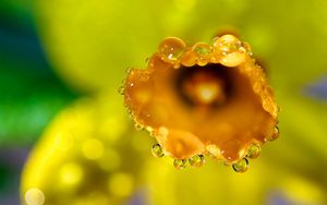
[[[133,196],[150,145],[131,132],[117,97],[82,98],[57,116],[25,165],[23,204],[40,205],[39,193],[46,204],[121,204]],[[114,125],[106,132],[109,119]]]

